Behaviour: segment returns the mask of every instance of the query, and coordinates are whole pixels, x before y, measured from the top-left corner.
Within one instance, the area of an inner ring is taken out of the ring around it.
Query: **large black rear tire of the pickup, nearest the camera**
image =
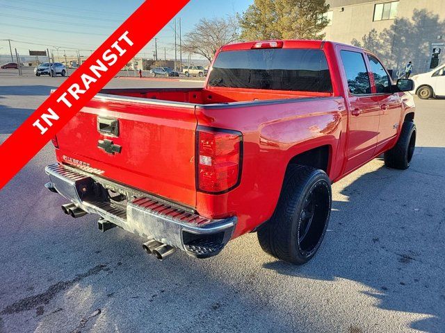
[[[309,262],[325,236],[331,204],[325,171],[290,165],[275,212],[258,230],[261,248],[285,262]]]

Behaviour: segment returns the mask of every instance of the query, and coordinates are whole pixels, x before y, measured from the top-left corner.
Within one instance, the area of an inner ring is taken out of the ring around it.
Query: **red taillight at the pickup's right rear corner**
[[[242,135],[232,130],[198,128],[197,189],[213,194],[238,185],[243,153]]]

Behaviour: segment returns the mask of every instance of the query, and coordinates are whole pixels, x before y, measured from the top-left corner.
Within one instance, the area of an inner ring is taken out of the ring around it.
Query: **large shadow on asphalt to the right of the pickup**
[[[264,267],[359,282],[375,289],[364,293],[380,309],[430,315],[412,329],[445,332],[445,171],[430,169],[438,159],[445,160],[445,148],[421,147],[409,171],[381,167],[364,174],[341,191],[345,200],[334,200],[330,232],[313,262]]]

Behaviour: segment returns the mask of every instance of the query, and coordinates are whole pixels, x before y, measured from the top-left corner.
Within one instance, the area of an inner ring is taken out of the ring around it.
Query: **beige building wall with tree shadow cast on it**
[[[399,0],[396,19],[373,21],[377,3],[388,1],[327,0],[332,22],[325,39],[362,46],[378,54],[387,67],[401,70],[412,61],[414,71],[430,70],[432,49],[439,47],[439,63],[445,62],[445,0]],[[362,38],[371,31],[371,39]],[[442,44],[442,45],[441,45]]]

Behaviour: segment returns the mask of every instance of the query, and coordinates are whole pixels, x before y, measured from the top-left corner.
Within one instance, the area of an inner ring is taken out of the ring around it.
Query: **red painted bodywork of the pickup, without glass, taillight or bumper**
[[[254,43],[220,51],[249,50]],[[368,51],[321,41],[284,41],[283,48],[323,49],[332,94],[207,83],[204,89],[106,89],[58,133],[58,160],[90,164],[105,178],[193,207],[211,219],[237,216],[233,237],[250,232],[273,214],[293,157],[326,146],[327,174],[337,181],[394,146],[405,114],[414,112],[409,94],[375,94],[374,86],[367,96],[350,94],[339,51]],[[373,85],[371,71],[369,76]],[[355,109],[361,110],[357,116]],[[120,135],[99,134],[97,116],[118,119]],[[227,193],[196,188],[197,126],[242,133],[241,182]],[[102,139],[122,146],[122,153],[97,148]]]

